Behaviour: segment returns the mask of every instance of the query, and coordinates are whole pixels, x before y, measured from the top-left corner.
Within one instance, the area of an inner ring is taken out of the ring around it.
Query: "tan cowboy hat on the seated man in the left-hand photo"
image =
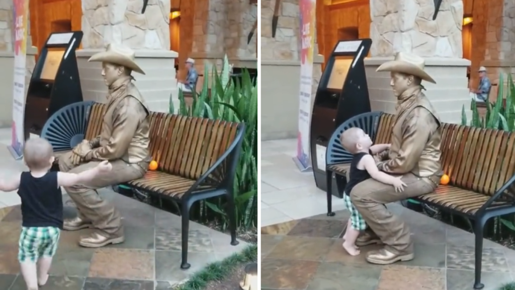
[[[145,74],[145,72],[136,65],[135,53],[133,50],[129,49],[129,47],[110,43],[107,45],[105,52],[99,52],[94,54],[88,59],[88,61],[105,61],[114,63],[115,65],[124,66],[132,71],[139,72],[141,74]]]

